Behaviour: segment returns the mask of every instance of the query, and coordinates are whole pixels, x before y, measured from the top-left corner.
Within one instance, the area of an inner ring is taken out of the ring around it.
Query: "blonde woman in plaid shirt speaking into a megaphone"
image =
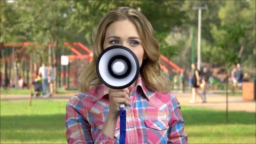
[[[140,74],[128,88],[106,87],[96,74],[103,49],[125,46],[138,58]],[[98,24],[93,59],[79,77],[81,94],[66,105],[68,143],[119,143],[119,105],[126,106],[127,144],[187,144],[181,107],[161,74],[159,43],[145,16],[130,7],[110,11]],[[93,88],[90,89],[90,86]]]

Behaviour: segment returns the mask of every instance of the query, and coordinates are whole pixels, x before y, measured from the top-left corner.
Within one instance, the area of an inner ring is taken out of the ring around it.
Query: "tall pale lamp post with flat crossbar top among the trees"
[[[197,69],[200,70],[201,62],[201,10],[207,10],[207,5],[200,7],[194,6],[193,10],[198,10],[198,37],[197,37]]]

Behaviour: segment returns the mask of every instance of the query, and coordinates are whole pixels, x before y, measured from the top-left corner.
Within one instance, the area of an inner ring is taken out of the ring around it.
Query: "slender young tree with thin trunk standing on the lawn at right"
[[[245,29],[242,24],[223,25],[218,31],[219,38],[216,46],[208,53],[213,61],[224,65],[226,73],[226,122],[228,121],[228,79],[230,67],[240,63],[239,51],[233,49],[237,47],[240,39],[245,36]],[[216,33],[217,35],[217,33]]]

